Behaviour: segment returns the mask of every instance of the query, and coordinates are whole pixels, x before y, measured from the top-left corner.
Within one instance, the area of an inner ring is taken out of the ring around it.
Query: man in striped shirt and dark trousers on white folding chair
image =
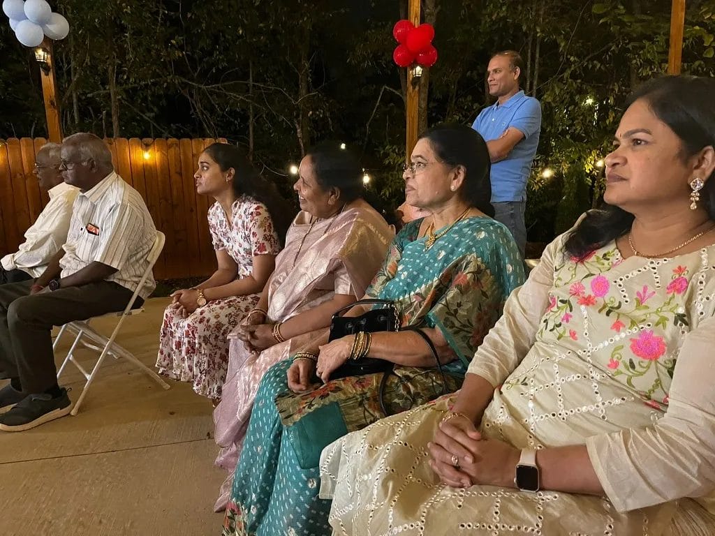
[[[139,193],[114,172],[94,134],[62,143],[60,172],[79,188],[64,246],[34,282],[0,285],[0,430],[29,430],[71,410],[57,384],[51,329],[127,307],[147,269],[156,228]],[[139,289],[137,306],[154,290]]]

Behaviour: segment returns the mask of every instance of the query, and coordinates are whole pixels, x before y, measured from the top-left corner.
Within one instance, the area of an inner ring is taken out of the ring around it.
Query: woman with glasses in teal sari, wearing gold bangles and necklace
[[[348,335],[273,366],[255,400],[224,535],[330,534],[330,502],[317,497],[322,448],[385,417],[382,405],[405,411],[459,389],[475,349],[524,280],[511,234],[491,218],[489,171],[486,144],[467,126],[420,137],[405,166],[405,197],[430,216],[403,227],[366,295],[392,301],[403,327],[420,327],[444,374],[410,331]],[[330,379],[360,356],[395,364],[382,394],[382,373]]]

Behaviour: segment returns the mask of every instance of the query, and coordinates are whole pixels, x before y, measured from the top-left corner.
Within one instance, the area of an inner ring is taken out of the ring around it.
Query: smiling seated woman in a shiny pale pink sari
[[[293,189],[301,212],[288,229],[275,272],[255,309],[229,335],[229,369],[214,412],[221,447],[216,464],[229,473],[217,511],[226,506],[263,374],[312,348],[327,334],[332,314],[363,297],[393,239],[385,219],[360,197],[357,159],[337,144],[307,153]]]

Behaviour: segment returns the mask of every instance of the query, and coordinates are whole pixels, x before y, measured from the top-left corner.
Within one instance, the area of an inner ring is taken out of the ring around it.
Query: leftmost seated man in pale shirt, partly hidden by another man
[[[39,187],[49,194],[34,224],[25,232],[25,242],[0,259],[0,284],[40,277],[67,238],[72,203],[79,190],[65,184],[59,173],[60,144],[45,144],[35,157],[33,173]]]

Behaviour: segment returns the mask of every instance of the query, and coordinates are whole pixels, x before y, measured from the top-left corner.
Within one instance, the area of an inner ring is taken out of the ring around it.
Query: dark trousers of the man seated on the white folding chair
[[[110,281],[30,296],[31,286],[31,281],[0,285],[0,378],[19,377],[27,394],[57,384],[53,326],[122,311],[133,294]],[[143,300],[137,302],[139,307]]]

